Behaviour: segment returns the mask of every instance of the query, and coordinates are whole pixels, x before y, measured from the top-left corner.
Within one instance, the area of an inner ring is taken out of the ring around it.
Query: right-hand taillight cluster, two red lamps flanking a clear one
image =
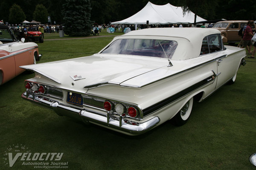
[[[105,108],[106,111],[113,111],[119,115],[125,115],[127,113],[132,118],[137,117],[139,114],[139,112],[137,111],[137,109],[135,107],[125,106],[118,102],[113,103],[110,101],[105,101],[103,104],[103,107]]]

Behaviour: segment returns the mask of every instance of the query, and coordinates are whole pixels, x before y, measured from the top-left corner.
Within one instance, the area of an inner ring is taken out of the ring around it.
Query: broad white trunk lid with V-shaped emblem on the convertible
[[[112,56],[94,54],[89,57],[25,65],[21,68],[38,72],[67,88],[92,88],[108,83],[119,85],[128,79],[168,65],[167,59]]]

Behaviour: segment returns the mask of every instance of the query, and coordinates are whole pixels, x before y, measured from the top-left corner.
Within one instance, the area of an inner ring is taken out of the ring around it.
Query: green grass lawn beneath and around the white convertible
[[[45,41],[38,44],[40,62],[91,55],[112,38]],[[256,153],[256,59],[250,61],[241,66],[234,85],[195,103],[185,125],[165,122],[141,136],[84,125],[32,105],[20,95],[24,80],[34,74],[23,73],[0,86],[0,170],[37,169],[22,165],[28,161],[20,158],[13,167],[4,164],[5,153],[14,157],[26,150],[63,153],[55,162],[68,162],[69,170],[255,170],[249,156]]]

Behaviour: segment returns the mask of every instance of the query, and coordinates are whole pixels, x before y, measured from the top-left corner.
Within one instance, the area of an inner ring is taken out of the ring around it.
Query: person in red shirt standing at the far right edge
[[[254,25],[254,21],[253,20],[249,20],[248,21],[248,25],[244,30],[244,37],[243,37],[243,46],[242,48],[246,47],[248,45],[248,54],[252,54],[251,52],[251,48],[253,46],[253,42],[252,42],[252,37],[253,37],[253,29],[252,26]],[[248,57],[250,58],[250,57]]]

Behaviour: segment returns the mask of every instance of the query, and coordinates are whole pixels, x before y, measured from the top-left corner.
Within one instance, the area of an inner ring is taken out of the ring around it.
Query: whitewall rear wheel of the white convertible
[[[173,123],[177,126],[184,125],[190,117],[192,106],[193,97],[189,99],[189,101],[186,102],[186,104],[180,109],[180,111],[172,118]]]

